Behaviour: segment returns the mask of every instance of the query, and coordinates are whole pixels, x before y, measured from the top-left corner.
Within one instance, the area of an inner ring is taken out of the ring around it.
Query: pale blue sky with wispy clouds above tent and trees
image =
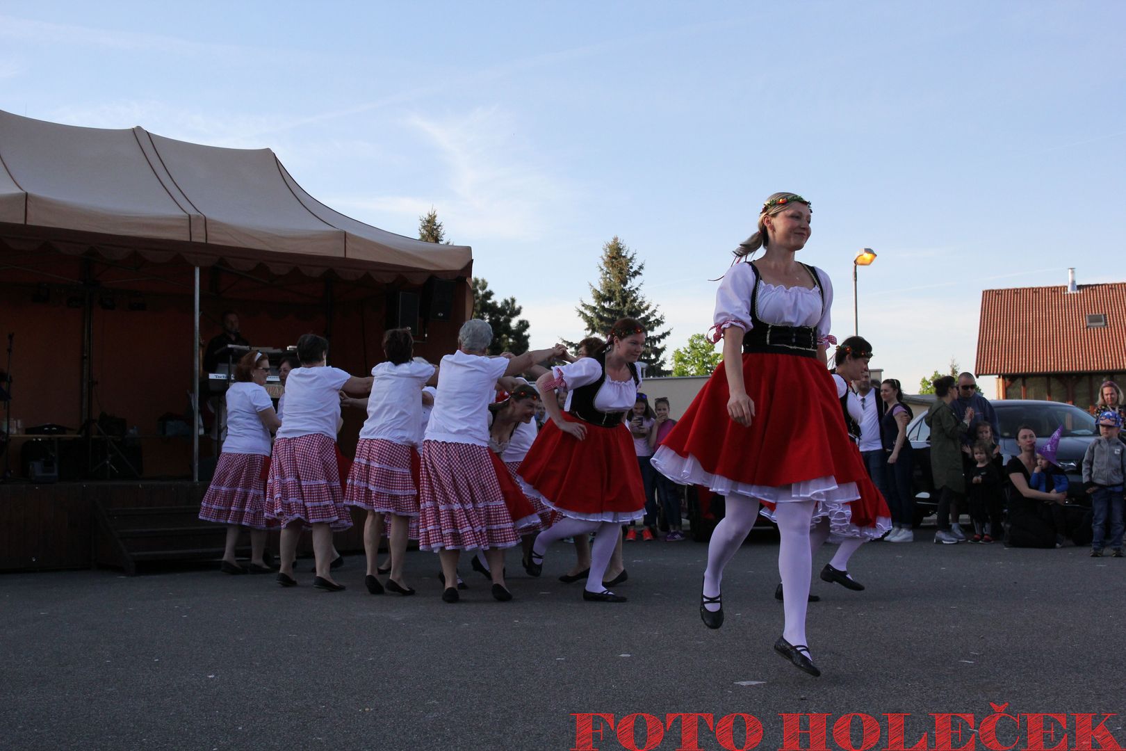
[[[972,367],[983,288],[1126,279],[1124,28],[1118,1],[0,1],[0,108],[269,146],[401,234],[434,206],[535,346],[579,337],[614,235],[671,346],[705,331],[708,279],[795,190],[834,333],[873,248],[860,331],[915,384]]]

